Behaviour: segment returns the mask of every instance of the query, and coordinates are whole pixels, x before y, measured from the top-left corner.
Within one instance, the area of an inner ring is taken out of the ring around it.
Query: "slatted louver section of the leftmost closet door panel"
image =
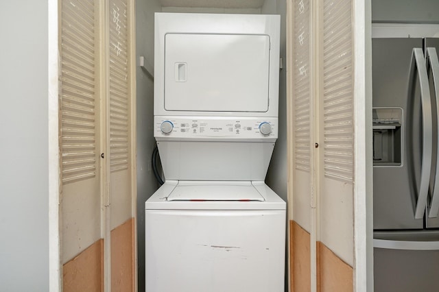
[[[93,1],[62,1],[62,183],[96,175],[95,25]]]

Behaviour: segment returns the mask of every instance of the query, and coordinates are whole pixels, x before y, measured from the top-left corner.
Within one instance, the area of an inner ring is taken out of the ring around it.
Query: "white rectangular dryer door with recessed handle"
[[[267,112],[270,36],[166,34],[165,110]]]

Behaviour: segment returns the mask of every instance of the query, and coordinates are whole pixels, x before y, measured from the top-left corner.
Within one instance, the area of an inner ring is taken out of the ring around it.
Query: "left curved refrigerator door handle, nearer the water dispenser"
[[[427,66],[425,65],[423,49],[414,48],[412,54],[412,66],[410,69],[410,76],[414,77],[416,68],[418,68],[418,78],[420,85],[420,104],[423,112],[423,158],[420,169],[420,184],[418,193],[418,202],[416,203],[416,210],[414,213],[415,219],[422,219],[425,214],[425,208],[427,206],[427,195],[430,180],[431,171],[431,154],[433,148],[433,121],[431,117],[431,96],[427,75]],[[409,93],[412,93],[409,88]]]

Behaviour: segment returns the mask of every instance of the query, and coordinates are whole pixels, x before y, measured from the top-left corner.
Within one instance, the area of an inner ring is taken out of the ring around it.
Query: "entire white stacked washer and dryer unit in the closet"
[[[147,292],[280,292],[285,202],[265,183],[278,136],[280,16],[157,13],[145,202]]]

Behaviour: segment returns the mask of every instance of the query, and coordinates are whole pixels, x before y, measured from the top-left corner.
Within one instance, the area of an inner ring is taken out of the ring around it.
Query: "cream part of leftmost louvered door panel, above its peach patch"
[[[95,1],[62,0],[60,6],[60,209],[64,264],[101,236],[99,32]]]

